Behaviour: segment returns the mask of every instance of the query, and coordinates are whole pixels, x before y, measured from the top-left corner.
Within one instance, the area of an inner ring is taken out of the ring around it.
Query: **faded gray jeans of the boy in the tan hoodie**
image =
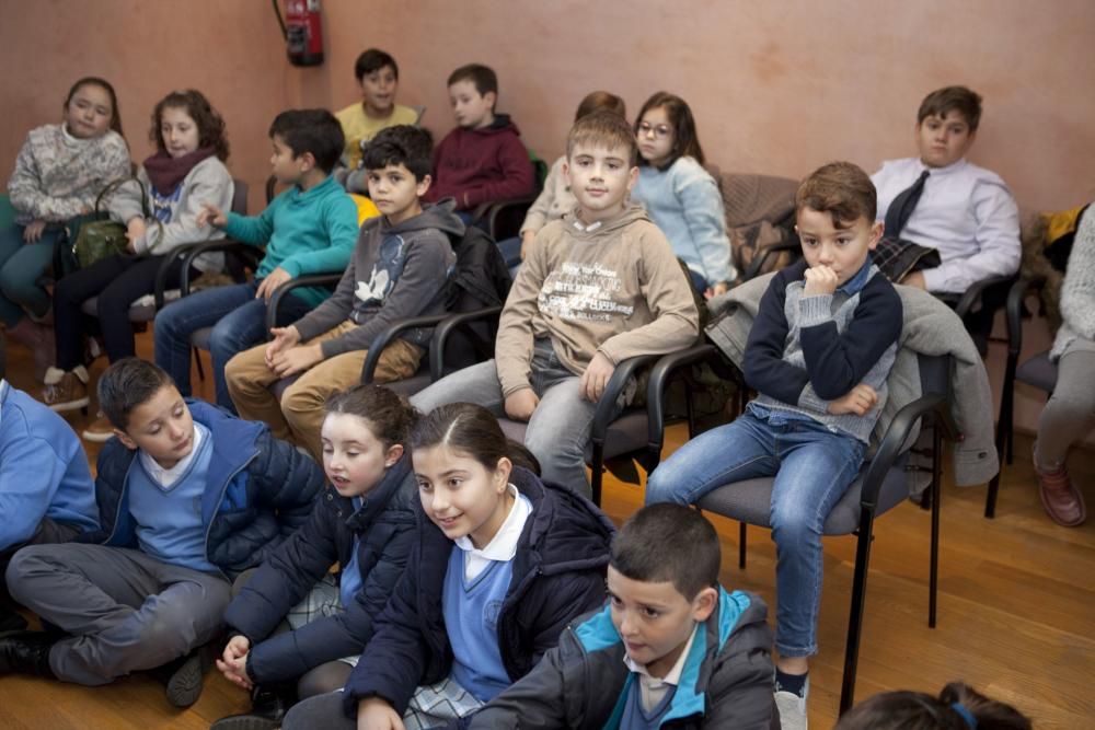
[[[535,343],[530,381],[540,405],[529,419],[525,445],[540,462],[544,480],[565,484],[588,497],[586,447],[597,404],[581,397],[580,378],[560,362],[550,339]],[[458,402],[481,405],[496,416],[506,415],[506,398],[494,360],[459,370],[411,398],[411,404],[423,413]],[[622,407],[619,404],[618,408]]]

